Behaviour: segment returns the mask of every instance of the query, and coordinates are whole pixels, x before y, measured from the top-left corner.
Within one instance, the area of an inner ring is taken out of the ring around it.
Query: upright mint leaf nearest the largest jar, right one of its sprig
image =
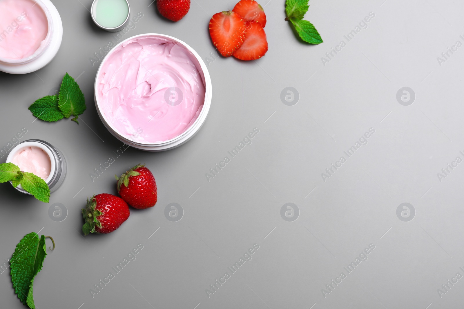
[[[84,113],[85,108],[87,108],[81,88],[79,88],[77,82],[75,82],[74,78],[69,76],[68,73],[64,75],[63,82],[61,82],[59,88],[58,107],[66,118],[80,115]]]

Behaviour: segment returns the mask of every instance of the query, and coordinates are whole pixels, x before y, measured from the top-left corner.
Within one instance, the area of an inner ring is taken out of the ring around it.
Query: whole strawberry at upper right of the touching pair
[[[116,179],[119,195],[130,206],[137,209],[155,206],[158,201],[155,177],[145,164],[135,165]]]

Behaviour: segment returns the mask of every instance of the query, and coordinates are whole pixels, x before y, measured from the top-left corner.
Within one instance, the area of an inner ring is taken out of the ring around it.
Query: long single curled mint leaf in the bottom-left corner
[[[15,293],[23,304],[35,309],[32,295],[34,277],[42,269],[45,252],[45,236],[29,233],[16,245],[11,262],[11,281]]]

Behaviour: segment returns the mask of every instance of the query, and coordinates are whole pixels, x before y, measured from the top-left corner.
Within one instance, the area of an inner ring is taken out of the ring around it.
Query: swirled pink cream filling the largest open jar
[[[97,76],[97,104],[123,137],[143,144],[173,139],[198,118],[205,83],[196,57],[168,38],[142,36],[116,47]]]

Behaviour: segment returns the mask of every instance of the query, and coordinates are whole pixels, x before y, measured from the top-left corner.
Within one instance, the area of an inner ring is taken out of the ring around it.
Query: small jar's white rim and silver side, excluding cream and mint
[[[66,176],[66,160],[64,159],[63,153],[44,140],[28,139],[19,143],[10,151],[6,158],[6,163],[10,163],[14,155],[25,147],[38,147],[48,154],[50,162],[52,163],[52,168],[45,182],[48,184],[50,192],[58,189]],[[30,194],[24,190],[21,185],[17,186],[16,189],[22,193]]]

